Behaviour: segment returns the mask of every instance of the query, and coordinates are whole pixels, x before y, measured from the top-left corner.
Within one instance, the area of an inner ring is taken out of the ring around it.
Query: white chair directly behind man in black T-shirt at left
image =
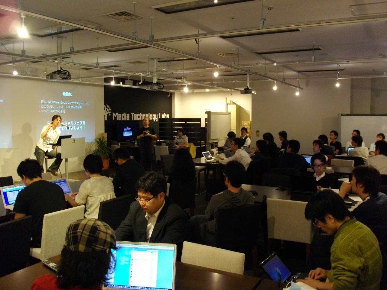
[[[84,218],[85,206],[75,206],[43,217],[42,243],[40,248],[30,248],[29,254],[41,261],[60,254],[70,223]]]

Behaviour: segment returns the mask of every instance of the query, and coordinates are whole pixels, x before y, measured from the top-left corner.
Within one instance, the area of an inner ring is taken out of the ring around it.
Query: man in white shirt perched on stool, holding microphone
[[[59,125],[62,122],[62,117],[59,115],[54,115],[51,119],[51,123],[44,126],[40,134],[38,144],[35,147],[36,160],[38,160],[40,167],[43,172],[43,162],[45,155],[48,157],[55,158],[53,164],[51,164],[48,172],[51,172],[52,175],[58,176],[58,169],[62,163],[62,154],[55,150],[55,146],[50,145],[58,142],[60,136]]]

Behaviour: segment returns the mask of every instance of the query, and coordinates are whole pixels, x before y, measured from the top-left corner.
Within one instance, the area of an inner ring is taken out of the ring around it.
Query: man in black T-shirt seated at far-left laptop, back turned
[[[15,219],[32,215],[31,247],[40,247],[43,216],[46,213],[66,209],[63,190],[57,184],[42,180],[37,160],[26,159],[17,167],[17,174],[26,188],[17,194],[13,211]]]

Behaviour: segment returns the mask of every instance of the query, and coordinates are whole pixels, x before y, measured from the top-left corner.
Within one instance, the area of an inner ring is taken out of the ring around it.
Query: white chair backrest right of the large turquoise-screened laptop
[[[185,241],[182,263],[243,275],[245,254]]]

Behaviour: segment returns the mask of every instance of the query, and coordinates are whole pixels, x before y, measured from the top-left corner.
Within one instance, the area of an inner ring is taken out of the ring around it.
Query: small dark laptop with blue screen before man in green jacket
[[[274,281],[278,281],[279,273],[281,273],[281,283],[289,283],[289,281],[292,280],[295,281],[297,279],[305,279],[308,277],[308,273],[291,273],[276,252],[273,252],[260,263],[259,266],[262,267],[266,274]]]

